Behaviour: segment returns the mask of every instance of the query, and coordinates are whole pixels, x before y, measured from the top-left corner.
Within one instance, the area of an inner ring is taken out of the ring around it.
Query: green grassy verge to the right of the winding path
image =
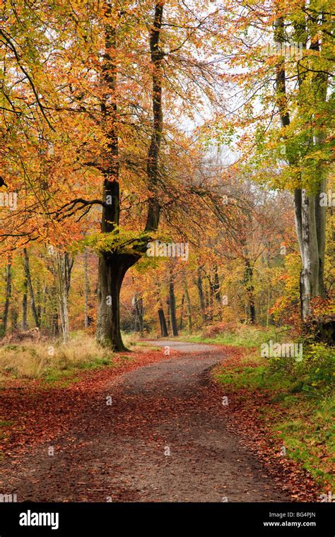
[[[247,389],[250,397],[241,394],[246,403],[254,391],[266,393],[270,404],[258,408],[259,419],[281,439],[286,456],[330,490],[335,488],[334,360],[335,350],[321,344],[306,345],[301,362],[248,352],[237,366],[223,365],[215,375],[233,391]]]

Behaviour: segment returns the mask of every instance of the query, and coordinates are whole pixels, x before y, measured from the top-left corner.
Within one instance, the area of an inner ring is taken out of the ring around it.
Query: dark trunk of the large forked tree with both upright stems
[[[103,170],[103,201],[101,231],[117,232],[120,213],[119,192],[119,139],[117,132],[117,65],[114,55],[117,51],[115,13],[109,2],[105,2],[105,55],[102,65],[102,126],[108,139],[108,165]],[[164,55],[160,51],[160,30],[163,18],[163,3],[155,4],[153,26],[150,33],[151,63],[153,66],[153,129],[151,143],[148,148],[148,214],[146,231],[155,231],[160,218],[158,203],[158,159],[160,141],[163,131],[162,108],[162,61]],[[112,98],[111,98],[112,95]],[[127,350],[122,342],[119,313],[119,294],[122,281],[127,270],[140,258],[146,245],[139,247],[139,254],[123,254],[122,252],[100,252],[98,274],[98,319],[97,340],[102,345],[114,350]]]

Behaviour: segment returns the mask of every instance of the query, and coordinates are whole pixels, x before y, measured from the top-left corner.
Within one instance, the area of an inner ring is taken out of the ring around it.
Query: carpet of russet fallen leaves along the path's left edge
[[[127,361],[129,360],[129,361]],[[40,379],[8,380],[1,390],[0,452],[16,456],[40,442],[52,442],[64,432],[71,431],[74,420],[85,416],[89,401],[101,397],[106,384],[136,367],[162,360],[158,350],[116,355],[114,367],[80,372],[79,382],[69,386],[57,384],[52,388]]]

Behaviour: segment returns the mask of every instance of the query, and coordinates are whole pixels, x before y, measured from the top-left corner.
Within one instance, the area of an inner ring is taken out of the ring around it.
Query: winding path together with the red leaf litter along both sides
[[[241,428],[245,411],[214,382],[213,368],[238,348],[152,345],[67,385],[6,382],[0,493],[19,502],[317,501],[312,479],[256,422]]]

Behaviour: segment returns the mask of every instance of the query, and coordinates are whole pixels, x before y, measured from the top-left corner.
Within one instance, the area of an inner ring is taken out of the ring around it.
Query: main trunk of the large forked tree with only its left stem
[[[117,133],[117,50],[114,14],[105,1],[105,54],[102,65],[102,128],[108,140],[108,163],[103,170],[101,231],[115,232],[119,225],[119,138]],[[112,98],[110,97],[112,95]],[[135,260],[134,260],[135,262]],[[119,294],[124,275],[133,263],[127,263],[124,254],[100,252],[98,266],[98,316],[96,337],[102,346],[113,350],[127,350],[122,342],[119,314]]]

